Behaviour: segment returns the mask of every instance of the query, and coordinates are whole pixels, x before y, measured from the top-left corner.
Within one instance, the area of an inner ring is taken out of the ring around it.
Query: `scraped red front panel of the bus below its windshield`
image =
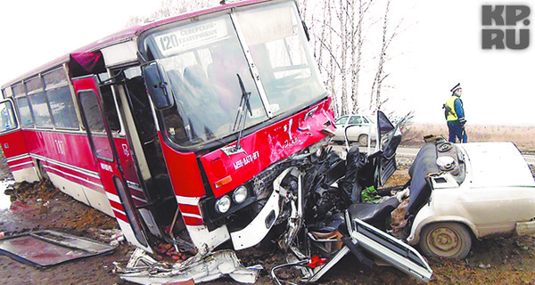
[[[325,138],[321,131],[326,122],[333,121],[333,111],[329,110],[330,99],[303,110],[290,118],[285,118],[272,126],[243,137],[240,144],[243,152],[227,156],[217,150],[200,158],[202,167],[210,182],[216,198],[251,180],[273,163],[299,152],[311,144]],[[329,126],[333,128],[333,126]],[[161,142],[165,140],[161,137]],[[229,146],[235,145],[232,143]],[[163,155],[169,169],[169,177],[177,195],[180,208],[188,225],[202,225],[202,213],[198,204],[182,202],[181,198],[201,199],[206,191],[202,173],[193,152],[181,153],[162,143]],[[216,188],[215,183],[222,177],[218,169],[212,169],[212,161],[221,159],[226,169],[224,176],[230,175],[232,181]],[[197,217],[198,216],[198,217]]]

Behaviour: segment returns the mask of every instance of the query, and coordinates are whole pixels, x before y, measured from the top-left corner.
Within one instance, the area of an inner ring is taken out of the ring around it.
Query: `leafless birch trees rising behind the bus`
[[[391,88],[386,69],[400,24],[391,23],[391,0],[297,0],[336,116],[381,109]],[[219,4],[219,0],[162,0],[149,22]]]

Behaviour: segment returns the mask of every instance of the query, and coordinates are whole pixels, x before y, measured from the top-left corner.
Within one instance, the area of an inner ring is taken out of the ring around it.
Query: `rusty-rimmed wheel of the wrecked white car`
[[[471,247],[472,237],[464,224],[429,224],[420,235],[420,249],[425,256],[465,258]]]

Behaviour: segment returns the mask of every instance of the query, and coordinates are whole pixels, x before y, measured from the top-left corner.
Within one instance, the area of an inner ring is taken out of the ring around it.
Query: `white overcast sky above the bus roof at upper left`
[[[0,2],[0,85],[148,16],[160,0],[4,0]]]

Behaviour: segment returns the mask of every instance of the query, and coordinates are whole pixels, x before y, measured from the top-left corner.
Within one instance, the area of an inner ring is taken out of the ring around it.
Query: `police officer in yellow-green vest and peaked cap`
[[[468,138],[465,131],[465,110],[461,101],[461,94],[463,94],[461,84],[455,85],[450,92],[452,93],[451,97],[442,106],[444,108],[444,116],[448,121],[449,142],[456,142],[457,138],[460,142],[466,142]]]

